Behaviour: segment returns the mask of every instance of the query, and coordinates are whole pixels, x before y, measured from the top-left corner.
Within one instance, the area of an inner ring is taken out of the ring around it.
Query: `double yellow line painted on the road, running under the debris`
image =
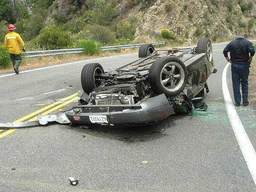
[[[52,103],[51,105],[48,105],[44,108],[39,109],[38,111],[35,111],[33,113],[30,113],[27,116],[24,116],[20,119],[17,119],[14,122],[23,122],[23,121],[36,121],[37,120],[37,115],[40,113],[42,115],[46,115],[51,113],[52,111],[55,111],[63,106],[66,106],[68,104],[70,104],[71,102],[77,101],[79,99],[79,97],[77,96],[78,93],[75,93],[73,95],[70,95],[64,99],[61,99],[57,102]],[[55,106],[55,107],[54,107]],[[49,109],[49,110],[48,110]],[[47,111],[46,111],[47,110]],[[45,111],[44,113],[42,113],[43,111]],[[31,118],[32,117],[32,118]],[[27,120],[28,119],[28,120]],[[16,131],[17,129],[9,129],[9,130],[1,130],[0,129],[0,138],[5,137],[6,135],[11,134],[12,132]],[[2,132],[2,133],[1,133]]]

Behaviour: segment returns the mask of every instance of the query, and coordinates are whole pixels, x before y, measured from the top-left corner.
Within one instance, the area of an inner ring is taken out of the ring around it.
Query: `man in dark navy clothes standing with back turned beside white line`
[[[241,103],[240,84],[242,86],[243,105],[249,105],[248,76],[250,73],[250,62],[253,60],[255,50],[253,44],[247,41],[247,38],[246,33],[241,33],[239,38],[231,41],[223,50],[225,58],[231,63],[233,93],[237,107]],[[230,58],[227,55],[228,52],[230,52]]]

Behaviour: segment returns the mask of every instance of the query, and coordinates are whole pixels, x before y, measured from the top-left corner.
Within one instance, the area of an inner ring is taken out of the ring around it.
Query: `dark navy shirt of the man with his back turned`
[[[255,54],[252,42],[244,38],[237,38],[227,44],[227,47],[223,50],[225,57],[227,57],[228,52],[230,52],[230,60],[237,64],[250,64],[250,62],[248,62],[249,58]]]

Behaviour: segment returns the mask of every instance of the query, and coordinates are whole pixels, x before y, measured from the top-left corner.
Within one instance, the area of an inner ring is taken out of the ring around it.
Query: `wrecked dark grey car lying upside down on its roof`
[[[137,61],[115,70],[84,65],[79,105],[65,114],[81,124],[140,125],[184,109],[204,110],[207,79],[216,71],[208,38],[187,49],[155,50],[143,44]]]

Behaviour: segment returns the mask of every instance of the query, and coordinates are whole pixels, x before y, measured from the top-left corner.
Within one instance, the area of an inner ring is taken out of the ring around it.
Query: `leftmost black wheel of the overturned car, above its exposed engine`
[[[104,70],[99,63],[89,63],[84,65],[81,72],[81,84],[85,93],[89,94],[93,89],[99,87],[102,82],[97,81],[97,76],[103,74]]]

